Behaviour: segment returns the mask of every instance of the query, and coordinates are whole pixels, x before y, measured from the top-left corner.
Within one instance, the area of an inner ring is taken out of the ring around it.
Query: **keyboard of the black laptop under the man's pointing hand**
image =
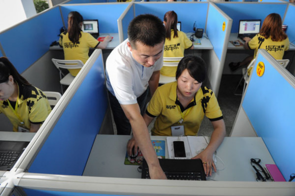
[[[176,172],[176,171],[164,171],[167,179],[179,179],[179,180],[202,180],[201,172]],[[150,179],[148,169],[145,171],[145,178]]]

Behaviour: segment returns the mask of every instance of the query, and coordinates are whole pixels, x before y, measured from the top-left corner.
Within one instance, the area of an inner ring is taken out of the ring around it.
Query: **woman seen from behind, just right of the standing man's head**
[[[164,57],[182,57],[184,49],[193,49],[193,43],[186,34],[176,28],[177,14],[167,11],[164,15],[166,39],[164,45]],[[165,76],[175,76],[176,67],[163,66],[160,73]]]

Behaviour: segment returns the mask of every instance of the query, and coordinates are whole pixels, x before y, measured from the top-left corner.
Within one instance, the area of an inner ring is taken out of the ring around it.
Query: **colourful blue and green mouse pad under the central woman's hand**
[[[165,158],[165,140],[151,140],[152,146],[158,158]],[[126,151],[124,164],[142,165],[143,155],[138,152],[137,156],[130,157]]]

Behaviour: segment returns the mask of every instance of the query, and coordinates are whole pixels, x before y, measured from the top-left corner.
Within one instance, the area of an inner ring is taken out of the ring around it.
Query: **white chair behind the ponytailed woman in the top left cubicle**
[[[70,73],[67,73],[65,76],[61,71],[61,68],[65,69],[77,69],[82,68],[84,65],[81,60],[60,60],[60,59],[51,59],[53,64],[56,66],[56,68],[59,70],[59,77],[60,77],[60,86],[61,86],[61,93],[63,94],[63,88],[62,85],[69,85],[72,80],[75,78]]]

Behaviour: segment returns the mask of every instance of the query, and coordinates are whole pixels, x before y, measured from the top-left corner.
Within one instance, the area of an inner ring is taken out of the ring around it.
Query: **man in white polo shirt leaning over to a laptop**
[[[137,15],[128,25],[128,38],[106,59],[106,87],[117,134],[130,135],[131,127],[148,164],[151,178],[166,179],[160,168],[143,114],[148,90],[158,86],[163,65],[165,29],[151,14]]]

